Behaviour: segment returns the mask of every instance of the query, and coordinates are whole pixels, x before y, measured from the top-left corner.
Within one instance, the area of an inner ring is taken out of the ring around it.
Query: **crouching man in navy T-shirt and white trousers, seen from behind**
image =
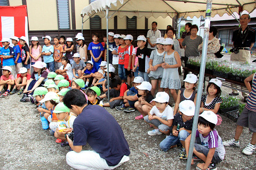
[[[129,160],[124,133],[105,108],[87,105],[84,94],[77,89],[68,91],[63,103],[78,115],[73,123],[74,141],[67,137],[73,149],[66,156],[68,165],[76,169],[114,169]],[[86,143],[93,151],[82,150]]]

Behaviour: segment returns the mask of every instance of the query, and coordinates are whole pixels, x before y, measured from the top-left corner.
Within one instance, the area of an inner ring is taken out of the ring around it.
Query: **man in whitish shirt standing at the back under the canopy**
[[[161,32],[157,29],[157,22],[152,22],[152,29],[148,30],[147,39],[148,39],[148,48],[156,48],[156,39],[161,37]]]

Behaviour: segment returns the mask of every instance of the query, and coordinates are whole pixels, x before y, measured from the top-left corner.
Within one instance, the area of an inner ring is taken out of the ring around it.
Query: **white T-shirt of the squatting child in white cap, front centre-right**
[[[153,106],[150,110],[150,115],[155,114],[157,117],[162,118],[163,120],[171,120],[173,119],[173,109],[171,106],[167,105],[164,109],[163,113],[160,113],[156,106]]]

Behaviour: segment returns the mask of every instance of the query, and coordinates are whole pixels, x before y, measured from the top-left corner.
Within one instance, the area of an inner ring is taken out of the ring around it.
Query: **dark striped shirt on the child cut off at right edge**
[[[252,91],[247,98],[247,103],[245,104],[245,107],[250,111],[256,112],[256,74],[254,74],[253,76]]]

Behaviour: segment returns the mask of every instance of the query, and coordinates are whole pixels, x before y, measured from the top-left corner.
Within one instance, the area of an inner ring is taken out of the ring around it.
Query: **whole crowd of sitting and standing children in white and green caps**
[[[159,147],[167,151],[180,145],[179,158],[187,159],[197,98],[197,76],[187,74],[185,88],[181,88],[178,73],[181,60],[172,38],[157,38],[157,49],[153,51],[145,46],[147,39],[143,35],[135,40],[137,47],[134,48],[133,36],[115,35],[113,32],[108,33],[108,48],[106,43],[99,43],[98,33],[93,33],[93,41],[88,48],[81,33],[75,37],[76,46],[72,38],[66,39],[64,36],[54,37],[54,45],[51,45],[50,36],[43,37],[43,47],[39,45],[37,37],[31,37],[30,46],[26,37],[11,39],[13,48],[9,46],[9,39],[3,38],[1,41],[4,47],[0,52],[3,65],[0,95],[6,97],[18,92],[18,95],[23,94],[21,102],[31,101],[36,104],[40,115],[49,122],[50,133],[61,146],[68,145],[65,135],[71,132],[76,118],[62,103],[62,99],[69,89],[79,89],[90,105],[124,112],[137,109],[140,115],[135,120],[144,120],[154,128],[148,131],[149,135],[166,135]],[[91,60],[87,60],[87,49]],[[106,62],[107,53],[109,65]],[[246,82],[256,81],[254,79],[255,75],[251,75]],[[215,125],[221,124],[221,117],[217,115],[222,102],[221,81],[209,81],[207,94],[201,99],[192,161],[193,164],[194,160],[203,160],[204,164],[198,164],[198,169],[217,169],[215,164],[225,156],[223,145],[239,146],[238,139],[243,126],[249,126],[253,132],[252,141],[243,153],[253,153],[256,130],[251,121],[255,120],[256,112],[255,86],[255,83],[252,88],[250,83],[246,84],[251,89],[250,102],[246,104],[248,111],[241,115],[243,120],[238,120],[239,133],[236,132],[234,139],[222,143],[214,129]],[[156,89],[158,92],[154,98]],[[178,94],[176,90],[179,90]],[[169,105],[169,91],[174,99],[174,108]],[[111,99],[103,103],[102,99],[108,95]],[[251,117],[249,123],[246,121],[248,117]]]

